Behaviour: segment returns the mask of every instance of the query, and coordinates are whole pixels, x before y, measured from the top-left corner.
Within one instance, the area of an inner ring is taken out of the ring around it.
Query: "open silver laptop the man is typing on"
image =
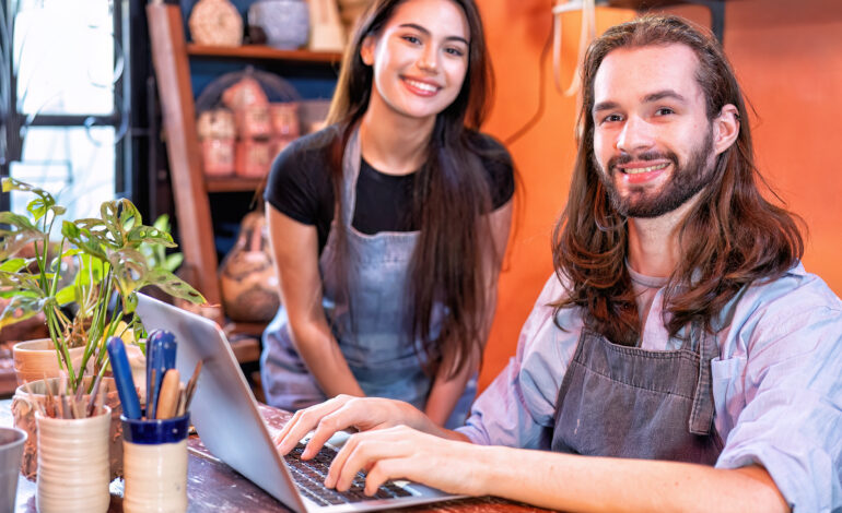
[[[371,511],[456,497],[409,481],[391,481],[373,498],[361,493],[360,481],[351,493],[326,488],[319,474],[348,433],[331,438],[315,462],[281,456],[219,324],[142,294],[138,298],[137,311],[147,330],[167,330],[175,335],[176,368],[182,377],[189,377],[196,363],[203,361],[190,404],[190,420],[202,443],[214,456],[289,508],[297,512]]]

